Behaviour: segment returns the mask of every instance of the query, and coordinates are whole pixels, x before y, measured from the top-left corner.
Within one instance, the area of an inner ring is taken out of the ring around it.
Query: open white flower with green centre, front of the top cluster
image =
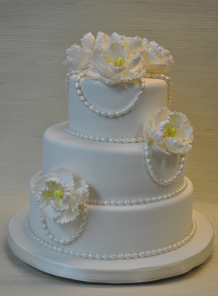
[[[109,40],[110,38],[110,40]],[[86,75],[105,84],[132,82],[145,74],[145,60],[140,54],[141,38],[113,33],[98,33]]]

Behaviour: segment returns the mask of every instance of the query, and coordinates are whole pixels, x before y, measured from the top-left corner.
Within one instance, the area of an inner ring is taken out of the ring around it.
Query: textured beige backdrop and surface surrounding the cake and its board
[[[45,275],[8,250],[6,236],[10,216],[28,204],[29,180],[41,169],[44,130],[68,120],[65,50],[100,30],[146,37],[171,52],[170,109],[186,114],[194,128],[186,171],[194,207],[217,231],[217,19],[217,0],[0,1],[2,295],[216,295],[217,240],[209,260],[184,276],[119,286]]]

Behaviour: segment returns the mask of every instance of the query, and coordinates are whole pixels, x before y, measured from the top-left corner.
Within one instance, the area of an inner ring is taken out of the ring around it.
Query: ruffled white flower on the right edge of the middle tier
[[[184,153],[191,149],[193,128],[186,116],[168,108],[161,107],[154,118],[147,116],[144,122],[143,136],[164,153]]]

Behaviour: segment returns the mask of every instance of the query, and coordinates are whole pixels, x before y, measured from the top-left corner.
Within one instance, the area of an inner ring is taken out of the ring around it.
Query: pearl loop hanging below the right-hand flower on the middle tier
[[[161,178],[159,178],[156,174],[156,172],[154,171],[153,169],[153,166],[152,166],[152,161],[150,159],[150,153],[149,153],[149,145],[148,145],[148,142],[145,143],[144,145],[144,150],[145,150],[145,158],[146,158],[146,163],[147,163],[147,166],[148,166],[148,170],[150,172],[150,175],[151,177],[156,181],[158,182],[160,185],[169,185],[169,184],[172,184],[174,181],[177,180],[177,178],[179,177],[179,175],[181,174],[181,171],[183,170],[184,168],[184,164],[185,164],[185,155],[186,153],[181,153],[181,158],[180,158],[180,161],[179,161],[179,166],[177,168],[177,171],[175,172],[175,174],[170,177],[168,180],[162,180]]]

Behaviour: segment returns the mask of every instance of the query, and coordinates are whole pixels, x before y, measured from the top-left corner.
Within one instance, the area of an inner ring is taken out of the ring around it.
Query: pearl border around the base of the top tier
[[[109,142],[109,143],[142,143],[144,142],[144,138],[106,138],[106,137],[98,137],[98,136],[90,136],[86,135],[84,133],[77,132],[75,130],[70,129],[69,125],[65,125],[64,127],[65,132],[72,136],[76,136],[81,139],[91,140],[91,141],[97,141],[97,142]]]

